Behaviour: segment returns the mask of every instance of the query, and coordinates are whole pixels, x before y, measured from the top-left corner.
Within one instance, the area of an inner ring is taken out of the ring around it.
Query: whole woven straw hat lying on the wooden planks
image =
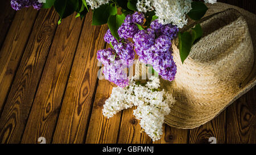
[[[173,43],[175,80],[160,79],[161,87],[176,99],[165,118],[172,127],[207,123],[256,84],[256,15],[225,3],[208,4],[208,8],[199,21],[203,37],[192,46],[184,64],[177,41]],[[191,21],[185,29],[193,25]]]

